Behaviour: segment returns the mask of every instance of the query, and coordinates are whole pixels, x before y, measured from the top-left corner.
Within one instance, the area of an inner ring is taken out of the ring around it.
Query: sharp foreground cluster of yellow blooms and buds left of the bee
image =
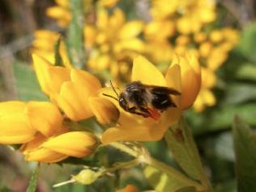
[[[53,163],[92,154],[97,137],[73,130],[65,119],[76,122],[96,116],[99,123],[111,124],[118,118],[117,108],[97,97],[100,81],[92,74],[32,57],[41,89],[52,102],[1,102],[0,144],[22,144],[19,151],[27,161]]]

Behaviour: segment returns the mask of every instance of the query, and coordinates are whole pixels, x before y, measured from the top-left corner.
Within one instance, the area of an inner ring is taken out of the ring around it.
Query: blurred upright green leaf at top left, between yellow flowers
[[[83,1],[70,1],[70,10],[72,19],[67,31],[67,48],[70,55],[70,61],[76,68],[82,69],[85,65],[83,50]]]

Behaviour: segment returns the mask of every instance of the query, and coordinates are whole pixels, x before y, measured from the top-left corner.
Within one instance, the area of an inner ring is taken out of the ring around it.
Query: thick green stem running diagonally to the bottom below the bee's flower
[[[125,144],[121,143],[113,143],[111,144],[114,148],[118,148],[123,152],[126,152],[130,154],[133,157],[138,158],[139,162],[145,163],[147,165],[151,165],[155,167],[156,169],[159,169],[163,173],[166,173],[172,177],[175,177],[178,181],[186,183],[188,186],[194,186],[198,191],[203,191],[205,188],[198,182],[195,182],[194,180],[190,179],[189,177],[186,177],[183,173],[177,171],[177,169],[174,169],[173,167],[164,164],[163,162],[160,162],[156,160],[153,157],[150,157],[147,154],[147,151],[145,148],[140,151],[135,151],[134,149],[131,149],[127,147]]]

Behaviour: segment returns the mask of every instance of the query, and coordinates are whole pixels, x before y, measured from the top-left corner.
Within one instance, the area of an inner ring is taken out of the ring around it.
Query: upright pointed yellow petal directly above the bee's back
[[[131,79],[146,85],[166,86],[163,74],[143,56],[134,58]]]

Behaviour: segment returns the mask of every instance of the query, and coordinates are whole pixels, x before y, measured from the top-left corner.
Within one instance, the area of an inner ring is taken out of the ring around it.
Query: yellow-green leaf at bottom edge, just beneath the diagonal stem
[[[143,173],[149,184],[158,192],[180,190],[187,185],[151,166],[145,166]]]

